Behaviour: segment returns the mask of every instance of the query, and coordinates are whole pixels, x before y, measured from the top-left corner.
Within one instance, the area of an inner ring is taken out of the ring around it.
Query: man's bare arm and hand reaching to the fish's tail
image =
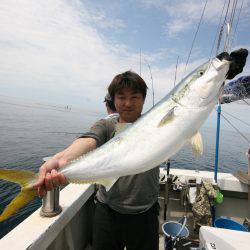
[[[57,153],[39,169],[39,177],[34,187],[38,189],[39,196],[44,196],[46,191],[52,190],[60,185],[65,185],[67,180],[65,176],[57,172],[57,169],[67,165],[73,159],[86,154],[95,149],[97,142],[93,138],[79,138],[75,140],[68,148]]]

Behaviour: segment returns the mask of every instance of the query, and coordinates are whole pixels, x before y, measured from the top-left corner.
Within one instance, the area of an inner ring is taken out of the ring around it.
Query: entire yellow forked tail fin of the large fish
[[[15,182],[21,186],[20,193],[6,206],[0,214],[0,222],[16,213],[20,208],[32,201],[37,191],[31,183],[36,179],[36,173],[28,170],[0,169],[0,179]]]

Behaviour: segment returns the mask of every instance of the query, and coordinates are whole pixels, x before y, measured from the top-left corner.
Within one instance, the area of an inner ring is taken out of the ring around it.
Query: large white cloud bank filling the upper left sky
[[[2,1],[0,83],[41,95],[103,96],[114,72],[131,61],[121,60],[122,45],[103,37],[93,19],[115,28],[104,15],[92,18],[80,1]]]

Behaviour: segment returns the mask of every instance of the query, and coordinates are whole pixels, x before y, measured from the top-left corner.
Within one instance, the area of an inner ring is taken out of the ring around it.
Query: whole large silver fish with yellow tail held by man
[[[229,62],[224,59],[214,58],[201,65],[130,127],[60,172],[69,182],[98,182],[110,188],[121,176],[159,165],[187,142],[195,152],[201,153],[199,129],[218,101],[228,70]],[[0,215],[1,221],[34,198],[36,175],[2,169],[0,178],[22,186],[21,193]]]

